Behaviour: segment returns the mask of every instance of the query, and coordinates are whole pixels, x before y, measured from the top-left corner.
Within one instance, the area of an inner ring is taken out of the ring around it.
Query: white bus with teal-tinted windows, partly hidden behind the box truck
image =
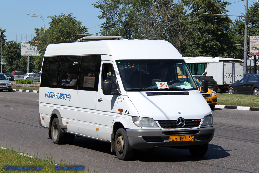
[[[188,65],[192,75],[204,75],[206,72],[207,63],[211,62],[240,62],[242,59],[236,58],[221,58],[221,57],[184,57],[183,58]],[[205,74],[206,75],[206,74]]]

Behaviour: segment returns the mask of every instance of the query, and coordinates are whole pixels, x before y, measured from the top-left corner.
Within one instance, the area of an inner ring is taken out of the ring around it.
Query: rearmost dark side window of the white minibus
[[[42,64],[41,87],[57,88],[61,57],[44,57]]]

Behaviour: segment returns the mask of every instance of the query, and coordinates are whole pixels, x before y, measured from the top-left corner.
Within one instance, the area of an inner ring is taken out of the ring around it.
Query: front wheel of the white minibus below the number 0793
[[[117,130],[114,138],[115,153],[120,160],[129,160],[133,156],[133,148],[130,146],[125,129]]]

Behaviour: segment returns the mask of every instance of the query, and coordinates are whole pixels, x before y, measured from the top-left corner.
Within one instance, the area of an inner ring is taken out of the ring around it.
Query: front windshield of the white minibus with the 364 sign
[[[126,91],[197,89],[185,61],[181,59],[117,60],[116,63]]]

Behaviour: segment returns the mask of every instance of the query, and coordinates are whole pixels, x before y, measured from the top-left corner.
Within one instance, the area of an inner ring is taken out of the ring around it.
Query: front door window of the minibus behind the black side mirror
[[[112,64],[103,64],[103,70],[102,70],[102,83],[103,81],[112,81],[111,88],[112,93],[114,93],[115,88],[117,88],[117,78],[114,72],[114,68]]]

